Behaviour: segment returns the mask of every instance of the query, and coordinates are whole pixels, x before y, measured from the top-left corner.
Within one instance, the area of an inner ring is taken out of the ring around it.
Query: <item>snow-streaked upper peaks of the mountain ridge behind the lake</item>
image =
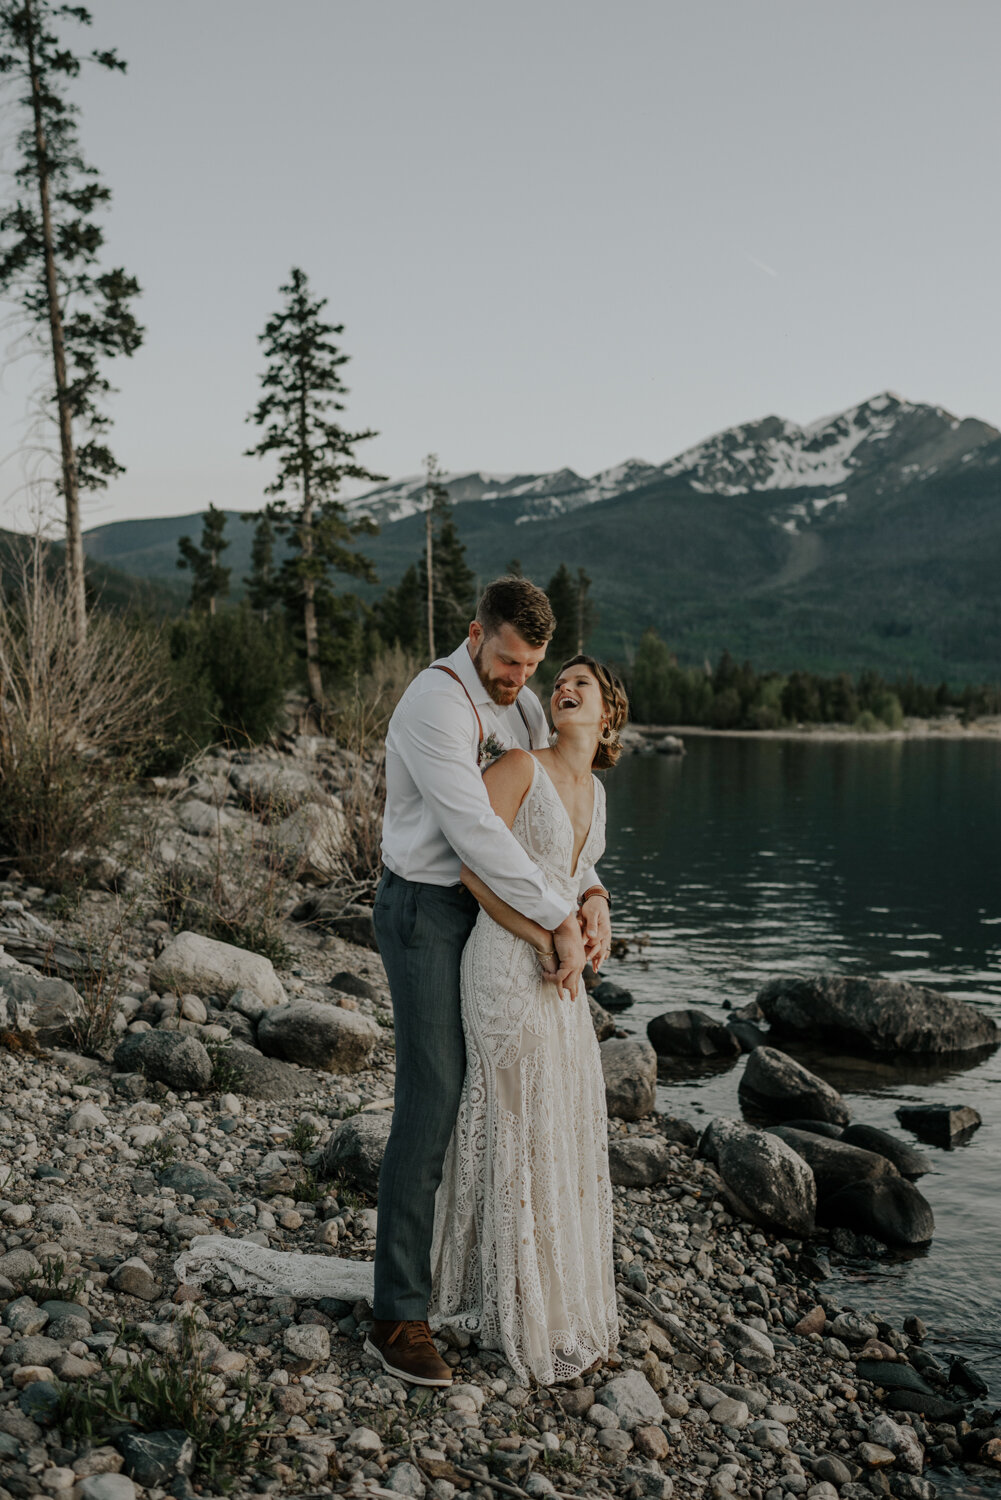
[[[777,504],[771,516],[795,532],[846,504],[858,480],[876,488],[920,482],[953,464],[969,462],[977,448],[998,435],[986,422],[960,420],[942,406],[884,392],[803,428],[783,417],[726,428],[666,464],[627,459],[590,478],[570,468],[551,474],[473,471],[449,474],[446,483],[456,504],[509,501],[515,525],[546,520],[663,480],[702,495],[812,490],[806,498],[797,494],[788,504]],[[348,502],[348,510],[387,525],[423,506],[423,477],[411,477],[366,490]]]

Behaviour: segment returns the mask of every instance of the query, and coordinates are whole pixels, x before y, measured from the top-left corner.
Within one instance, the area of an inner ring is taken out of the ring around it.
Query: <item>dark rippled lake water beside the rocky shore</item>
[[[606,968],[636,1000],[617,1017],[624,1028],[644,1034],[651,1016],[689,1005],[725,1018],[725,1000],[746,1004],[765,980],[816,972],[926,984],[1001,1020],[1001,742],[686,747],[629,758],[606,778],[614,927],[650,939]],[[927,1251],[839,1268],[827,1286],[897,1328],[923,1317],[938,1358],[963,1353],[1001,1404],[1001,1052],[965,1068],[795,1052],[854,1119],[906,1140],[897,1104],[981,1113],[968,1146],[921,1146],[933,1164],[918,1184],[936,1221]],[[683,1071],[660,1084],[660,1107],[698,1126],[740,1118],[741,1068]]]

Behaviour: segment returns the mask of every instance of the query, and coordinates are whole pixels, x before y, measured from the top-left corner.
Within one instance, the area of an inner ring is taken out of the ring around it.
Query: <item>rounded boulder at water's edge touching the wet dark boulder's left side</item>
[[[741,1218],[779,1234],[813,1233],[816,1184],[810,1167],[783,1140],[737,1120],[714,1119],[699,1154],[716,1164]]]

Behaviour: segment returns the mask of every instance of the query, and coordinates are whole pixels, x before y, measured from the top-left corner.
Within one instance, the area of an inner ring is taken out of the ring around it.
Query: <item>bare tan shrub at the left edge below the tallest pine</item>
[[[162,694],[149,634],[95,612],[77,639],[36,544],[0,596],[0,858],[74,884],[72,856],[108,836]]]

